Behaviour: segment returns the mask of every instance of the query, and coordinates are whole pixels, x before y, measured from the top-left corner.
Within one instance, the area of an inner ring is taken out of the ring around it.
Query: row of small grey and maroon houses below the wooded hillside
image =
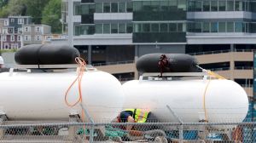
[[[32,24],[30,16],[0,19],[1,49],[19,49],[27,44],[41,44],[44,43],[45,35],[51,35],[51,27]]]

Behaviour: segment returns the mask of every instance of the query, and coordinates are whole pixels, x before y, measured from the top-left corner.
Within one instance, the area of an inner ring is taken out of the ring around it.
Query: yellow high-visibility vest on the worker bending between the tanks
[[[143,109],[125,109],[125,111],[132,112],[132,117],[137,123],[146,123],[149,112]]]

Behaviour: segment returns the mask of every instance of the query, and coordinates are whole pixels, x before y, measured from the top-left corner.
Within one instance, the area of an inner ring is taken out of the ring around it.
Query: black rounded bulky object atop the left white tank
[[[20,65],[73,64],[79,57],[79,50],[61,44],[31,44],[15,53],[15,61]]]

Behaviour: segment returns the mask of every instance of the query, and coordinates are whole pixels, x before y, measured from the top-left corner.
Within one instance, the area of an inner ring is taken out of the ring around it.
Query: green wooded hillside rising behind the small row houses
[[[61,0],[0,0],[0,18],[11,15],[32,16],[34,24],[52,26],[61,32]]]

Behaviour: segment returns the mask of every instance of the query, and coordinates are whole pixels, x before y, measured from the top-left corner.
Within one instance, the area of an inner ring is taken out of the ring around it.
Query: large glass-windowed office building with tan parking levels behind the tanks
[[[67,10],[67,0],[63,0]],[[69,1],[68,1],[69,2]],[[73,45],[98,69],[137,78],[137,57],[194,55],[253,97],[254,0],[73,0]],[[62,14],[67,14],[65,10]]]

